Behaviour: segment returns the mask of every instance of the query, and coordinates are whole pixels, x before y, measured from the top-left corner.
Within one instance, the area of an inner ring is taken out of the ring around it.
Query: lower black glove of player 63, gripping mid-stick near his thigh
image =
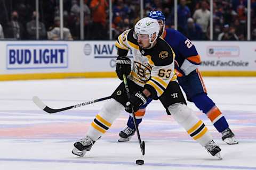
[[[130,101],[126,103],[125,111],[128,113],[137,112],[140,108],[140,106],[145,105],[147,103],[147,97],[143,94],[143,92],[135,92],[131,98]]]

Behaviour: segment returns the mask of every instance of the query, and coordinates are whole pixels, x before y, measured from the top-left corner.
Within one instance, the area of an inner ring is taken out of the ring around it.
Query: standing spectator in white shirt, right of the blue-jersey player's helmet
[[[203,40],[206,39],[207,27],[208,27],[209,22],[210,22],[210,11],[207,10],[207,6],[208,6],[207,2],[202,1],[201,2],[201,8],[196,10],[194,15],[193,15],[195,23],[200,25],[200,27],[202,28],[202,31],[203,31],[203,37],[202,38],[203,38]]]

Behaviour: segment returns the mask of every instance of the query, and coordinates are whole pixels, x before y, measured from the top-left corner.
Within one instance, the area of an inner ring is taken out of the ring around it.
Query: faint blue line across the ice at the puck
[[[76,163],[76,164],[113,164],[113,165],[136,165],[135,162],[111,162],[111,161],[91,161],[91,160],[58,160],[58,159],[19,159],[0,158],[5,162],[43,162],[43,163]],[[168,164],[168,163],[145,163],[143,166],[170,166],[170,167],[198,167],[198,168],[223,168],[223,169],[256,169],[248,166],[222,166],[222,165],[193,165],[193,164]]]

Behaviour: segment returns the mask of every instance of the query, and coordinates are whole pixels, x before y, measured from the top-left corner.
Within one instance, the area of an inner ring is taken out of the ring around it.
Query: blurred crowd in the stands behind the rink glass
[[[79,0],[63,0],[63,39],[80,39]],[[112,0],[111,32],[115,39],[140,19],[140,1]],[[174,28],[173,0],[144,0],[144,16],[161,10],[166,28]],[[84,39],[109,39],[109,1],[84,0]],[[207,0],[178,1],[178,30],[191,40],[210,39],[210,4]],[[0,39],[36,39],[35,2],[0,1]],[[39,1],[39,39],[60,39],[59,0]],[[256,0],[251,0],[251,40],[256,40]],[[213,39],[246,40],[247,0],[213,1]]]

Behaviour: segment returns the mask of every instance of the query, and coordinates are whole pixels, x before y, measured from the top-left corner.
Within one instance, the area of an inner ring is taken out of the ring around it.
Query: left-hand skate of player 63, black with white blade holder
[[[87,151],[91,150],[93,144],[95,141],[93,141],[89,137],[85,137],[77,142],[74,143],[74,149],[72,150],[72,154],[77,155],[79,157],[83,157]]]

